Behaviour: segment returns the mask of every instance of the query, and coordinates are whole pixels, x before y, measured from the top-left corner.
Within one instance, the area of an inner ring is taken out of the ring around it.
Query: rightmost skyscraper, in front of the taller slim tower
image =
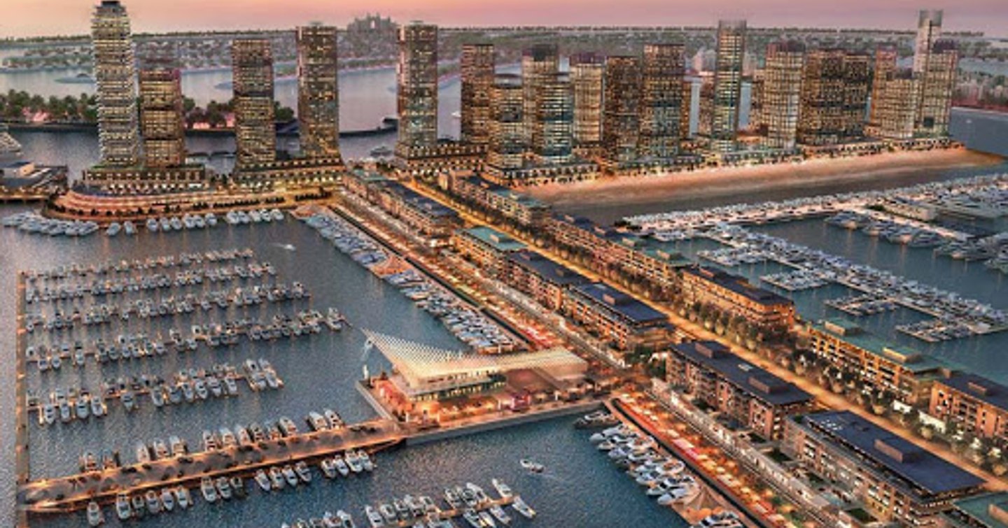
[[[959,49],[956,42],[935,40],[927,54],[926,69],[919,80],[920,103],[917,108],[916,135],[949,135],[949,115],[958,68]]]

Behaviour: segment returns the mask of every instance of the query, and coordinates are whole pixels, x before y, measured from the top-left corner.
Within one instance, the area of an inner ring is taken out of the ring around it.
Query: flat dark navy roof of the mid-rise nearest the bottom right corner
[[[875,465],[913,487],[923,489],[927,494],[967,490],[984,484],[982,479],[973,474],[851,411],[807,414],[803,419],[814,430],[839,440],[845,448],[868,457]]]

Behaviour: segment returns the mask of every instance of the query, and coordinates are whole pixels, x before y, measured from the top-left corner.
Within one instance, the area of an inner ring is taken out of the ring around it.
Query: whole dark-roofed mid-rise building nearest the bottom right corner
[[[850,411],[785,421],[781,450],[861,501],[881,523],[932,526],[984,481]]]

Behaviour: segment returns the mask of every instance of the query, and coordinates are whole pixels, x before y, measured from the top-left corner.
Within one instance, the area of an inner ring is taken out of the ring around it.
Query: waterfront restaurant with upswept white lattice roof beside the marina
[[[554,394],[573,390],[583,384],[588,371],[588,362],[562,348],[479,355],[371,331],[364,333],[392,364],[392,374],[387,380],[379,380],[380,395],[386,401],[398,402],[397,410],[414,413],[431,414],[439,408],[438,402],[479,398],[494,392],[521,394],[534,389]]]

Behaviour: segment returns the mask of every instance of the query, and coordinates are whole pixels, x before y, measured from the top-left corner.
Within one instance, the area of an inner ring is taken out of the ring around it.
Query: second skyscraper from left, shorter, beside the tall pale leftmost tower
[[[174,167],[185,161],[181,76],[167,65],[140,71],[140,127],[144,164]]]

